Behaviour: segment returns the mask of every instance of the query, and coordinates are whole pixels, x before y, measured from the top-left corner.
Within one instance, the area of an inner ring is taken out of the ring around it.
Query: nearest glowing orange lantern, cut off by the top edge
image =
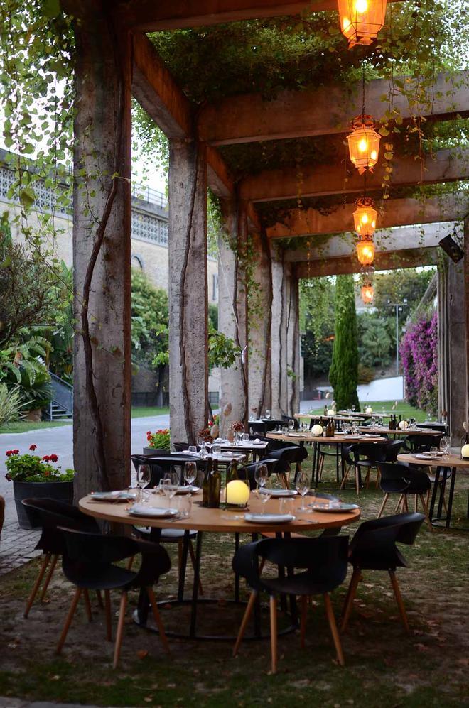
[[[339,0],[340,29],[348,48],[371,44],[384,26],[386,0]]]

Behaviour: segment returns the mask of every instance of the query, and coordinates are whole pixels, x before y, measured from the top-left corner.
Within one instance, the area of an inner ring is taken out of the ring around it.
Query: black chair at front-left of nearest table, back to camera
[[[110,591],[122,592],[119,621],[117,623],[113,668],[117,667],[124,633],[127,593],[131,589],[145,589],[149,597],[153,617],[158,627],[161,643],[169,652],[168,640],[156,604],[153,584],[171,568],[168,553],[162,545],[136,540],[126,536],[104,536],[95,533],[81,533],[67,528],[60,529],[65,539],[62,567],[65,577],[77,588],[68,611],[57,646],[60,654],[67,638],[70,623],[77,609],[82,593],[88,590],[104,591],[106,599],[106,634],[112,639]],[[117,562],[136,554],[141,555],[141,565],[137,572],[115,565]]]

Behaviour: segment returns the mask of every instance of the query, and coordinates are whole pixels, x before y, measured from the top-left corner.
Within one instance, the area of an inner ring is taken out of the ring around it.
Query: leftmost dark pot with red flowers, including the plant
[[[60,501],[73,501],[72,469],[62,472],[56,454],[46,454],[43,457],[34,454],[37,445],[30,445],[29,450],[20,454],[19,450],[6,451],[6,479],[13,481],[13,492],[16,504],[16,513],[20,528],[38,528],[41,524],[34,512],[26,509],[21,503],[22,499],[41,497],[42,499],[59,499]]]

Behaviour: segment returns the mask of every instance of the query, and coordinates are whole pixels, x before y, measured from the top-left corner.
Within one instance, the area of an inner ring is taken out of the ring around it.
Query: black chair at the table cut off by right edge
[[[389,494],[399,494],[399,501],[397,502],[395,512],[399,511],[399,507],[401,508],[401,512],[409,511],[408,497],[409,495],[413,495],[415,497],[414,511],[417,511],[418,499],[420,499],[428,525],[432,528],[430,518],[428,517],[428,503],[426,499],[428,491],[431,489],[431,480],[428,474],[418,472],[400,462],[378,462],[377,464],[380,474],[379,486],[382,491],[384,491],[384,499],[379,509],[378,518],[382,516],[384,507],[389,499]]]

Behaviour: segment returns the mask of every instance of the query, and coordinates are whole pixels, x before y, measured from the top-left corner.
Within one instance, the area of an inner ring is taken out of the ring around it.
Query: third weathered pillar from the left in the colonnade
[[[230,415],[220,417],[220,433],[225,436],[234,420],[244,425],[248,418],[247,348],[247,217],[237,197],[222,200],[225,232],[218,239],[218,329],[242,350],[242,356],[220,370],[222,398],[220,410],[231,403]]]

